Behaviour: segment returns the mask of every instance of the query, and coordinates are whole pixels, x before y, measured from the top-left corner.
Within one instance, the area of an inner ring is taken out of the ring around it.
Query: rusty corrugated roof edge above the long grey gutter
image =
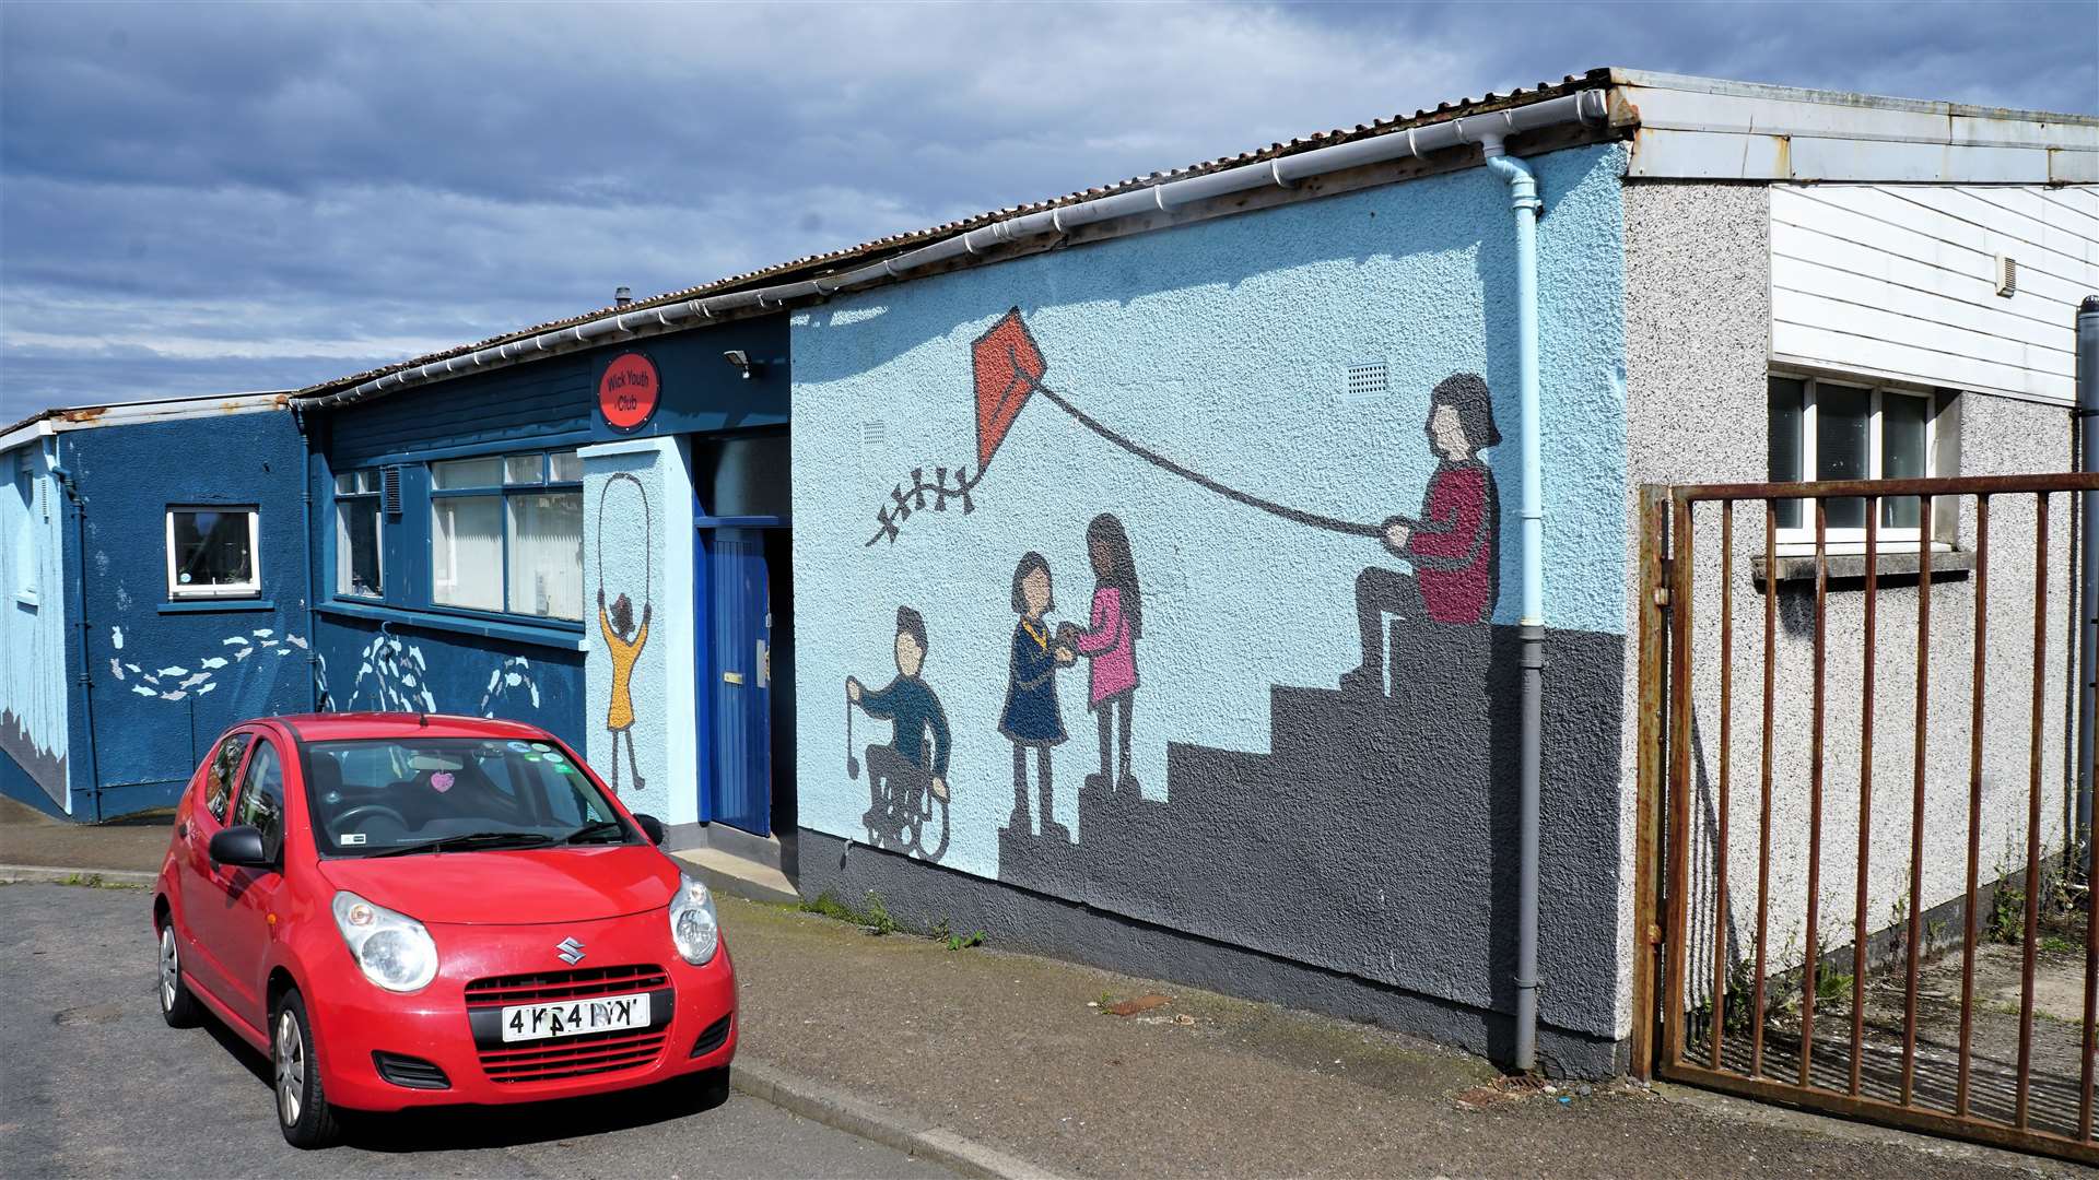
[[[1486,92],[1486,94],[1482,94],[1478,99],[1459,99],[1455,103],[1438,103],[1434,109],[1421,109],[1421,111],[1415,111],[1413,115],[1394,115],[1394,118],[1385,118],[1385,120],[1373,120],[1373,122],[1366,122],[1366,124],[1356,124],[1352,128],[1335,128],[1335,130],[1322,130],[1322,132],[1314,132],[1314,134],[1303,134],[1303,136],[1291,139],[1287,143],[1270,143],[1268,147],[1259,147],[1259,149],[1251,149],[1251,151],[1241,151],[1238,155],[1220,155],[1217,160],[1205,160],[1201,164],[1188,164],[1186,168],[1173,168],[1169,172],[1152,172],[1148,176],[1131,176],[1127,181],[1119,181],[1119,183],[1112,183],[1112,185],[1098,185],[1098,187],[1091,187],[1091,189],[1079,189],[1075,193],[1064,193],[1062,197],[1050,197],[1050,199],[1031,202],[1031,204],[1022,204],[1022,206],[1008,206],[1008,208],[999,208],[999,210],[987,210],[987,212],[980,212],[976,216],[966,216],[966,218],[949,220],[949,223],[942,223],[942,225],[930,225],[926,229],[913,229],[909,233],[890,233],[886,237],[875,237],[873,241],[863,241],[858,246],[848,246],[844,250],[831,250],[831,252],[825,252],[825,254],[808,254],[808,256],[793,258],[793,260],[787,260],[787,262],[777,262],[772,267],[762,267],[758,271],[745,271],[741,275],[728,275],[726,279],[716,279],[712,283],[699,283],[699,286],[693,286],[693,288],[682,288],[682,290],[674,290],[674,292],[663,292],[659,296],[640,298],[640,300],[634,300],[628,307],[600,307],[600,309],[594,309],[594,311],[586,311],[581,315],[571,315],[567,319],[550,319],[546,323],[533,323],[531,328],[518,328],[514,332],[504,332],[500,336],[489,336],[487,340],[476,340],[472,344],[460,344],[455,349],[445,349],[445,351],[439,351],[439,353],[428,353],[428,355],[422,355],[422,357],[411,357],[407,361],[399,361],[399,363],[393,363],[393,365],[382,365],[382,367],[376,367],[376,370],[365,370],[361,374],[348,374],[348,376],[342,376],[342,378],[334,378],[334,380],[325,380],[325,382],[319,382],[319,384],[311,384],[311,386],[298,391],[296,397],[313,397],[313,395],[336,391],[336,388],[342,388],[342,386],[361,384],[361,382],[367,382],[367,380],[374,380],[374,378],[399,372],[399,370],[411,370],[411,367],[418,367],[418,365],[428,365],[432,361],[445,361],[445,359],[451,359],[451,357],[464,357],[468,353],[479,353],[481,349],[493,349],[495,344],[506,344],[510,340],[527,340],[527,338],[537,336],[542,332],[554,332],[554,330],[560,330],[560,328],[575,328],[579,323],[590,323],[594,319],[602,319],[602,317],[609,317],[609,315],[621,315],[621,313],[642,311],[642,309],[651,309],[651,307],[659,307],[659,304],[682,302],[682,300],[688,300],[688,298],[695,298],[695,296],[728,294],[728,292],[735,292],[735,290],[741,290],[741,288],[768,286],[768,283],[777,283],[781,279],[791,279],[791,277],[823,275],[823,273],[829,273],[829,271],[848,269],[848,265],[850,267],[861,267],[861,265],[867,265],[867,262],[871,262],[875,258],[882,258],[882,256],[888,256],[888,254],[898,254],[898,252],[905,252],[905,250],[913,250],[917,246],[926,246],[928,241],[936,241],[936,239],[949,237],[953,233],[966,233],[966,231],[972,231],[972,229],[980,229],[984,225],[993,225],[993,223],[999,223],[999,220],[1005,220],[1005,218],[1012,218],[1012,216],[1041,212],[1041,210],[1047,210],[1047,208],[1068,206],[1068,204],[1077,204],[1077,202],[1089,202],[1089,199],[1096,199],[1096,197],[1110,197],[1115,193],[1125,193],[1125,191],[1131,191],[1131,189],[1146,189],[1146,187],[1152,187],[1152,185],[1163,185],[1167,181],[1182,181],[1182,178],[1188,178],[1188,176],[1201,176],[1205,172],[1217,172],[1222,168],[1238,168],[1243,164],[1257,164],[1257,162],[1264,162],[1264,160],[1276,160],[1276,157],[1282,157],[1282,155],[1295,155],[1299,151],[1312,151],[1312,149],[1318,149],[1318,147],[1333,147],[1337,143],[1350,143],[1350,141],[1356,141],[1356,139],[1371,139],[1371,136],[1379,136],[1379,134],[1392,134],[1396,130],[1417,128],[1417,126],[1423,126],[1423,124],[1436,124],[1436,122],[1444,122],[1444,120],[1453,120],[1453,118],[1476,115],[1476,113],[1482,113],[1482,111],[1494,111],[1494,109],[1503,109],[1503,107],[1518,107],[1518,105],[1526,105],[1526,103],[1539,103],[1539,101],[1545,101],[1545,99],[1557,99],[1562,94],[1572,94],[1576,90],[1593,90],[1593,88],[1608,86],[1608,84],[1610,84],[1610,69],[1591,69],[1587,73],[1568,73],[1560,82],[1539,82],[1536,86],[1530,86],[1530,88],[1515,88],[1515,90],[1509,90],[1507,94],[1497,94],[1497,92],[1490,90],[1490,92]]]

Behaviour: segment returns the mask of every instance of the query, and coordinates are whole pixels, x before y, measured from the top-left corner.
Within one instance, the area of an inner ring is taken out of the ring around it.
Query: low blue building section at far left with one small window
[[[168,806],[225,726],[311,708],[304,462],[283,393],[0,428],[0,792]]]

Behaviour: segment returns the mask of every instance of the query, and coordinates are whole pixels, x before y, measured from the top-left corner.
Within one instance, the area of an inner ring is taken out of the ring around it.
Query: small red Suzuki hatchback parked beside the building
[[[661,838],[527,724],[233,726],[153,886],[162,1016],[212,1012],[267,1052],[294,1146],[338,1109],[726,1094],[737,976]]]

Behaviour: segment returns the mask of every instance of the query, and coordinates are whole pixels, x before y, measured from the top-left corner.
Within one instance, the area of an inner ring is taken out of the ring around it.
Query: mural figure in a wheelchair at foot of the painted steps
[[[869,844],[938,859],[947,850],[947,760],[953,750],[947,710],[919,676],[924,668],[926,617],[911,607],[896,607],[896,678],[882,689],[867,689],[846,676],[846,701],[894,724],[886,745],[867,745],[869,804],[861,819],[867,823]],[[850,710],[846,716],[850,720]],[[848,737],[848,745],[850,741]],[[940,813],[940,840],[936,850],[928,850],[924,827],[934,808]]]

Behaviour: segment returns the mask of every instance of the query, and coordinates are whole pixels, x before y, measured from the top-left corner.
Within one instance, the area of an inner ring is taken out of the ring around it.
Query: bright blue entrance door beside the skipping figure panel
[[[709,676],[709,798],[705,819],[756,836],[772,829],[772,594],[760,529],[701,529]]]

